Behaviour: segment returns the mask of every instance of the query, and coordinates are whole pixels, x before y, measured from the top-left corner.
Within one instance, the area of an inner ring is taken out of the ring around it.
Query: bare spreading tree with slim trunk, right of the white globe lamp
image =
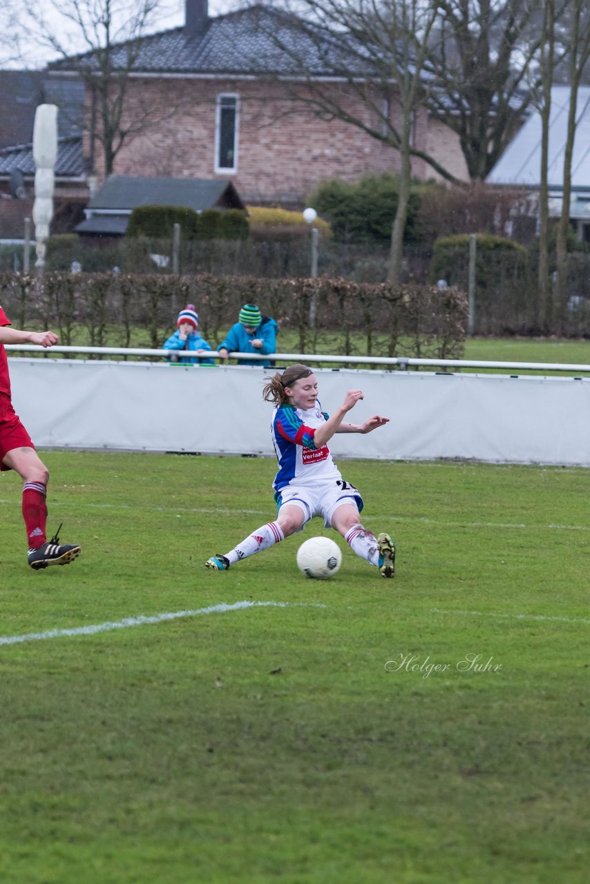
[[[402,274],[412,157],[424,160],[443,178],[455,180],[413,141],[415,117],[429,88],[424,67],[437,4],[298,0],[295,10],[296,15],[285,17],[283,27],[269,28],[267,36],[289,59],[289,76],[280,79],[296,105],[307,106],[324,119],[343,120],[399,152],[400,192],[388,268],[388,278],[397,281]],[[261,27],[264,21],[268,19],[262,15]]]

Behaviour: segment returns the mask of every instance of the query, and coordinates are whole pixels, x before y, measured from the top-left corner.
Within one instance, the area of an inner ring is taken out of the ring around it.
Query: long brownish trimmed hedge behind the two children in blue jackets
[[[310,328],[312,300],[315,328]],[[141,346],[161,347],[179,310],[194,303],[203,338],[217,347],[247,301],[273,316],[280,328],[295,330],[302,353],[331,352],[325,348],[337,332],[339,340],[344,335],[337,352],[346,355],[444,359],[463,354],[467,302],[455,288],[440,292],[435,286],[326,278],[50,272],[39,289],[32,276],[0,274],[0,303],[15,327],[55,329],[65,345],[73,342],[76,326],[84,326],[92,346],[128,347],[132,332],[142,328]]]

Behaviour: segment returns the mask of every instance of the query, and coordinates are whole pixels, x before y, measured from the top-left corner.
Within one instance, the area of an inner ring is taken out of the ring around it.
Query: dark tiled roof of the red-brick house
[[[277,46],[277,38],[284,49]],[[300,71],[298,58],[316,76],[333,75],[355,57],[352,48],[342,57],[336,43],[301,19],[264,6],[253,6],[210,19],[201,34],[178,27],[142,39],[134,63],[136,72],[168,72],[193,74],[287,75]],[[295,58],[295,60],[294,60]],[[92,54],[76,57],[88,59]],[[114,66],[127,67],[127,45],[122,44],[113,56]],[[50,65],[50,70],[71,70],[68,60]],[[366,68],[365,68],[366,69]]]

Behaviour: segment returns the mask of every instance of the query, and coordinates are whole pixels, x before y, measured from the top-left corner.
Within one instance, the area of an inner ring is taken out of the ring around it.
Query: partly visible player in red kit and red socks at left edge
[[[57,334],[53,331],[19,331],[8,328],[9,325],[10,320],[0,307],[0,470],[13,469],[24,482],[22,514],[27,527],[28,564],[35,570],[48,565],[67,565],[80,555],[80,546],[60,545],[57,532],[61,525],[55,536],[49,542],[47,540],[46,497],[50,474],[12,408],[11,379],[4,349],[4,344],[52,347],[57,344]]]

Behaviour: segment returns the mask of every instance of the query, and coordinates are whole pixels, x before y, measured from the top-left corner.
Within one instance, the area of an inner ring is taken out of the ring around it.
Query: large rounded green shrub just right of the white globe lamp
[[[336,240],[387,242],[399,202],[399,179],[395,175],[366,175],[350,184],[338,179],[325,181],[310,196],[310,205],[326,216]],[[406,242],[417,236],[416,219],[420,197],[414,184],[410,193]]]

